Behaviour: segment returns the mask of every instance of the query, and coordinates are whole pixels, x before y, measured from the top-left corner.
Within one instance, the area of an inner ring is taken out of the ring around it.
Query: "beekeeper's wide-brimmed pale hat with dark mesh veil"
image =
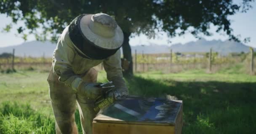
[[[115,54],[124,39],[114,18],[104,13],[77,16],[69,25],[69,37],[81,56],[98,60]]]

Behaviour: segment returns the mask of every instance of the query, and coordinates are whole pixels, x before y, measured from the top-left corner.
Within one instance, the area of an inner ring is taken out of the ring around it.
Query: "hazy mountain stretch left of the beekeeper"
[[[0,47],[0,54],[3,52],[13,52],[15,49],[15,55],[21,57],[52,57],[53,51],[56,48],[56,44],[50,41],[29,41],[17,46]]]

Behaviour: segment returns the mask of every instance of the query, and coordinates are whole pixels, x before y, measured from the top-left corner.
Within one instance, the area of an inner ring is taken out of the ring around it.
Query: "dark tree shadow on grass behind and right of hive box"
[[[183,134],[256,134],[256,83],[178,82],[133,77],[131,95],[174,95],[184,103]]]

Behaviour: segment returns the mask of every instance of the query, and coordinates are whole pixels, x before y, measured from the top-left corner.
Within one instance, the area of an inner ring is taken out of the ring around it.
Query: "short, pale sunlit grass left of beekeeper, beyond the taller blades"
[[[51,113],[47,73],[27,71],[0,75],[0,102],[29,103],[38,111]]]

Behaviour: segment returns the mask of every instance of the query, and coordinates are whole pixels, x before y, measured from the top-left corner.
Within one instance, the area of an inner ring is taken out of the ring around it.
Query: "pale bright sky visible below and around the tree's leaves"
[[[241,0],[234,0],[235,3],[239,3]],[[252,3],[253,8],[250,9],[247,13],[237,13],[229,17],[231,20],[231,27],[234,30],[235,35],[241,36],[241,39],[250,37],[251,41],[246,43],[247,46],[252,46],[256,48],[256,2]],[[13,46],[24,43],[24,40],[21,38],[21,35],[17,34],[17,28],[22,26],[22,22],[19,22],[17,25],[13,25],[13,28],[10,32],[2,32],[3,28],[11,23],[11,18],[6,17],[5,14],[0,14],[0,47]],[[224,33],[216,33],[216,27],[211,26],[210,31],[213,33],[212,36],[202,36],[206,40],[227,40],[228,36]],[[35,37],[33,35],[28,36],[27,41],[33,41]],[[148,39],[147,36],[141,34],[130,39],[131,46],[135,45],[172,45],[172,44],[185,44],[190,41],[197,41],[191,33],[186,33],[183,36],[168,38],[166,33],[159,35],[156,39]],[[171,41],[171,42],[169,42]]]

